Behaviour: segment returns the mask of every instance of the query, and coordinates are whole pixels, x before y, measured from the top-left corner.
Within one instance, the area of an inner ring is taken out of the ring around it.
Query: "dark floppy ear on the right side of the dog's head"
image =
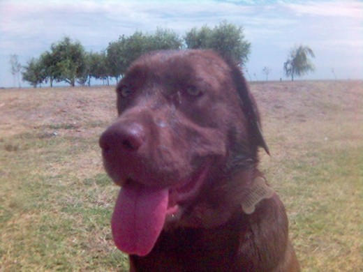
[[[240,98],[239,102],[242,106],[242,109],[244,110],[244,114],[246,114],[246,117],[249,120],[249,125],[253,135],[253,142],[255,142],[257,146],[261,146],[263,149],[265,149],[266,153],[269,154],[269,148],[265,142],[260,126],[260,114],[258,113],[255,100],[249,92],[242,71],[239,66],[235,65],[233,61],[231,62],[227,60],[227,62],[231,68],[232,79],[234,80],[237,93]]]

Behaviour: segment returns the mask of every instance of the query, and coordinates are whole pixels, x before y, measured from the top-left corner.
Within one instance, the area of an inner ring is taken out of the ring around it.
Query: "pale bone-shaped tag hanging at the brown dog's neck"
[[[253,179],[251,188],[248,189],[246,198],[242,201],[242,211],[251,214],[255,211],[255,206],[262,200],[268,199],[274,195],[274,189],[267,186],[265,179],[258,176]]]

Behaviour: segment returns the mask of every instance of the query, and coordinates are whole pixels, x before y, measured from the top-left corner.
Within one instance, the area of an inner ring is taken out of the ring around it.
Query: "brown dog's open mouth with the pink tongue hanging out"
[[[150,188],[129,180],[119,192],[112,213],[112,236],[119,250],[144,256],[154,248],[165,220],[177,220],[182,206],[198,196],[209,163],[170,188]]]

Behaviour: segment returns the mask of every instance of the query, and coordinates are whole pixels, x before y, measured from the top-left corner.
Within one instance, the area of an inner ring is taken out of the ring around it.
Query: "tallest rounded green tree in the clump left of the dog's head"
[[[84,47],[79,42],[73,42],[71,38],[65,37],[58,43],[52,44],[51,51],[57,70],[55,73],[57,82],[64,81],[75,86],[75,80],[84,77],[87,67]]]

